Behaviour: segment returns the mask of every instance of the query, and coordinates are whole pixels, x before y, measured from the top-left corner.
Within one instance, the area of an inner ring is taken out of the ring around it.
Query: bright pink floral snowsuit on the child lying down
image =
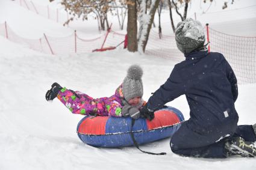
[[[63,88],[57,97],[73,114],[122,117],[122,100],[124,100],[122,85],[111,97],[93,99],[80,91],[66,88]]]

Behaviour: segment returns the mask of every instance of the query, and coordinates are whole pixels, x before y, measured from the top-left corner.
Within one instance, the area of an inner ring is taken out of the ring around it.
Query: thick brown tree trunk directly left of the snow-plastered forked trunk
[[[127,21],[127,49],[130,52],[138,50],[137,44],[137,4],[136,0],[129,0],[128,4],[128,21]]]

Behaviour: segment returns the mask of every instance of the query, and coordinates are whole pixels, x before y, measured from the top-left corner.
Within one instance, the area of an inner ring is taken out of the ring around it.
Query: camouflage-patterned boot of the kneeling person
[[[241,137],[232,138],[225,144],[226,156],[240,155],[242,157],[256,156],[254,142],[245,141]]]

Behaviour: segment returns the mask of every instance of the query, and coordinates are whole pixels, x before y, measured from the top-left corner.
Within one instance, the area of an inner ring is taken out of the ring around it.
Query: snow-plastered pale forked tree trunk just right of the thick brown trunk
[[[143,53],[146,49],[146,44],[148,43],[149,32],[154,21],[155,11],[157,10],[160,0],[152,0],[151,5],[148,9],[146,8],[146,1],[143,0],[140,4],[140,14],[139,14],[139,35],[138,35],[138,50]]]

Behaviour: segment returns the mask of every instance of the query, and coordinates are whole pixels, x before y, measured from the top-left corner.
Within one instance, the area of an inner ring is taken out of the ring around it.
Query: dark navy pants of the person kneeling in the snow
[[[185,121],[170,139],[170,148],[173,153],[181,156],[220,158],[226,157],[225,142],[232,137],[240,136],[245,141],[256,141],[255,132],[251,125],[237,126],[236,132],[232,136],[217,141],[213,136],[212,134],[204,135],[189,129]]]

